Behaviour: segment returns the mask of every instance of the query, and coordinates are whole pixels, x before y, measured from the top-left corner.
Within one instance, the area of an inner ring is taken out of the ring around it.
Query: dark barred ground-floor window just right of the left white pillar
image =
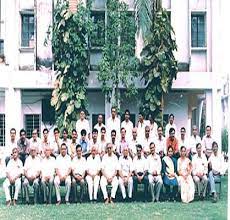
[[[25,115],[25,128],[27,138],[32,137],[32,132],[36,128],[38,129],[38,135],[40,133],[40,115]]]

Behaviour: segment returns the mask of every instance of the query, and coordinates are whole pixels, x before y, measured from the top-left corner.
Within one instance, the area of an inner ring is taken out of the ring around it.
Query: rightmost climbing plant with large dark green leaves
[[[168,93],[178,71],[173,55],[177,47],[167,11],[160,8],[153,13],[150,32],[141,53],[140,71],[145,82],[141,111],[162,121],[163,95]]]

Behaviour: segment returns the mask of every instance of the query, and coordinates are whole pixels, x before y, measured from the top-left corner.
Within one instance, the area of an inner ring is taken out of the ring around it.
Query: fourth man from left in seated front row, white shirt
[[[57,203],[56,205],[61,204],[61,195],[60,195],[60,185],[65,184],[66,195],[65,202],[69,204],[69,194],[71,189],[71,158],[67,154],[67,146],[65,143],[62,143],[60,155],[56,158],[56,176],[54,178],[54,186],[56,189]]]

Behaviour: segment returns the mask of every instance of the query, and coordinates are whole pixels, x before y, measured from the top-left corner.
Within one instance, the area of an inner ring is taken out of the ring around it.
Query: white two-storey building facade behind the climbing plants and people
[[[134,10],[132,0],[124,0]],[[179,62],[172,92],[164,98],[164,116],[173,113],[175,123],[191,134],[192,125],[213,127],[213,135],[221,141],[221,12],[224,0],[163,0],[175,31]],[[0,146],[7,145],[9,130],[24,127],[40,132],[53,126],[49,99],[55,80],[51,49],[44,47],[46,32],[52,24],[54,3],[50,0],[0,0]],[[94,22],[104,22],[105,0],[94,0]],[[214,19],[215,18],[215,19]],[[143,46],[136,38],[136,54]],[[98,48],[99,47],[99,48]],[[97,81],[100,45],[91,48],[88,101],[91,125],[97,114],[109,117],[106,102]],[[46,59],[42,60],[41,57]],[[121,101],[121,110],[128,108],[137,122],[138,103]]]

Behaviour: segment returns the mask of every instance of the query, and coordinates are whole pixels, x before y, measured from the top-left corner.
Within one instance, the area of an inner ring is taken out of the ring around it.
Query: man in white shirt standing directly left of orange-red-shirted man
[[[154,140],[156,146],[156,153],[162,158],[166,151],[166,138],[163,136],[163,127],[160,125],[157,128],[157,138]]]

